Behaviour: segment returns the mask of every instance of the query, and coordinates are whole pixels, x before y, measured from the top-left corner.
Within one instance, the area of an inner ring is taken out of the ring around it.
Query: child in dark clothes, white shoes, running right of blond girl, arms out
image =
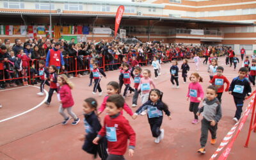
[[[93,87],[93,95],[96,94],[97,90],[99,91],[99,96],[102,95],[102,90],[100,88],[100,74],[102,74],[105,78],[106,74],[104,73],[104,71],[102,69],[99,68],[99,65],[97,62],[93,63],[93,70],[90,73],[90,77],[93,77],[94,79],[94,87]]]

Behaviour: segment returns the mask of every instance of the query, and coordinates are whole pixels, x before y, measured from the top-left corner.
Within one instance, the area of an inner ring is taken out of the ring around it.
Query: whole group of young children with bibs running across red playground
[[[195,55],[196,56],[196,55]],[[194,58],[195,63],[199,63],[200,58]],[[106,77],[103,70],[97,65],[97,61],[91,60],[91,72],[90,72],[90,84],[92,85],[92,79],[94,79],[93,94],[99,91],[99,95],[102,95],[102,89],[100,88],[100,78]],[[248,62],[249,63],[249,62]],[[176,83],[176,88],[179,88],[179,67],[177,61],[172,61],[172,67],[170,67],[171,82],[173,87]],[[198,65],[198,64],[196,64]],[[227,77],[223,76],[224,68],[218,66],[218,61],[215,58],[211,59],[211,65],[209,65],[207,71],[212,85],[207,87],[204,95],[204,90],[200,84],[203,81],[202,77],[197,72],[191,73],[189,80],[191,83],[188,85],[187,100],[190,99],[189,111],[193,112],[194,118],[192,124],[199,122],[198,116],[204,113],[201,128],[200,137],[200,149],[198,152],[205,153],[205,144],[207,142],[208,130],[211,132],[211,144],[216,143],[216,131],[218,128],[218,122],[221,119],[221,96],[224,92],[224,83],[227,84],[225,92],[232,94],[234,102],[236,104],[236,114],[233,118],[234,121],[238,121],[241,118],[243,100],[250,95],[252,89],[250,83],[246,78],[248,70],[252,74],[252,78],[255,79],[256,75],[256,60],[252,61],[252,65],[245,66],[239,69],[239,76],[232,80],[230,84]],[[154,57],[152,61],[155,77],[159,76],[159,70],[161,65]],[[76,125],[79,122],[79,118],[72,112],[72,106],[74,106],[74,100],[72,99],[71,89],[73,84],[69,81],[67,76],[57,76],[57,68],[52,65],[49,67],[49,72],[44,68],[44,61],[40,61],[39,75],[42,79],[40,85],[40,93],[38,95],[44,95],[44,84],[50,85],[49,97],[45,104],[51,103],[52,93],[56,91],[58,93],[58,100],[60,102],[59,113],[63,116],[63,125],[67,124],[70,119],[65,115],[64,110],[67,109],[68,115],[74,118],[72,125]],[[188,60],[183,60],[181,66],[182,77],[184,83],[186,83],[186,77],[188,76],[189,65]],[[198,68],[196,68],[198,70]],[[102,76],[101,76],[102,75]],[[171,120],[170,111],[168,105],[163,101],[163,92],[156,89],[154,81],[150,78],[151,72],[148,69],[142,70],[138,65],[130,65],[125,62],[120,67],[119,83],[111,81],[107,85],[108,95],[104,97],[100,108],[97,108],[97,100],[88,98],[84,100],[84,126],[86,131],[86,137],[81,138],[84,140],[83,150],[89,154],[93,154],[95,157],[99,154],[101,159],[124,159],[124,154],[127,149],[127,140],[129,139],[129,156],[133,156],[134,148],[136,146],[136,134],[129,125],[128,120],[124,118],[122,109],[124,109],[133,119],[136,119],[138,115],[146,115],[148,117],[148,124],[152,136],[155,138],[154,142],[159,143],[164,138],[164,129],[161,129],[163,122],[163,111]],[[134,88],[131,87],[131,78],[134,79]],[[48,83],[50,80],[50,83]],[[174,83],[175,81],[175,83]],[[123,96],[120,95],[122,85],[125,85]],[[254,83],[255,84],[255,83]],[[253,84],[253,85],[254,85]],[[125,97],[127,92],[134,92],[132,97],[132,107],[138,106],[138,97],[141,98],[141,106],[135,113],[125,103]],[[204,99],[205,97],[205,99]],[[198,108],[202,101],[203,107]],[[104,109],[106,109],[106,116],[104,118],[104,125],[100,125],[99,116]],[[108,152],[106,150],[108,148]]]

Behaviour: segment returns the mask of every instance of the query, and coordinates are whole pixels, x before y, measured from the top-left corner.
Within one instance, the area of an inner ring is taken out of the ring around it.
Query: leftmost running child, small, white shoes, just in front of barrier
[[[39,61],[39,69],[38,69],[38,74],[41,79],[41,84],[40,84],[40,92],[36,93],[37,95],[44,95],[44,84],[47,86],[50,86],[47,78],[49,77],[49,72],[47,68],[45,68],[45,61],[40,60]]]

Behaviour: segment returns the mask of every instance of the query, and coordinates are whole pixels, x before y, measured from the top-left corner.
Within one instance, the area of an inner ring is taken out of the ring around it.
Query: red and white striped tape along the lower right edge
[[[245,119],[247,118],[249,111],[250,111],[250,109],[252,109],[252,106],[253,106],[253,100],[255,99],[255,92],[253,92],[250,97],[252,97],[252,99],[250,100],[250,102],[249,102],[246,110],[244,111],[243,115],[241,116],[240,120],[232,127],[232,129],[230,129],[230,131],[227,133],[225,138],[223,138],[223,140],[220,143],[220,146],[217,148],[217,150],[214,152],[214,154],[212,154],[210,160],[216,158],[218,156],[218,154],[220,153],[220,151],[228,144],[228,141],[230,141],[230,139],[232,138],[234,132],[236,131],[238,124],[241,122],[241,120],[243,120],[243,116],[246,115],[246,117],[244,117],[244,118]],[[244,121],[245,120],[243,120],[243,122]],[[243,127],[243,124],[239,126],[240,130],[241,130],[241,127]],[[232,142],[234,143],[234,141],[232,141]],[[227,148],[225,150],[226,153],[223,153],[223,154],[225,154],[227,156],[229,154],[230,150],[231,150],[231,148]]]

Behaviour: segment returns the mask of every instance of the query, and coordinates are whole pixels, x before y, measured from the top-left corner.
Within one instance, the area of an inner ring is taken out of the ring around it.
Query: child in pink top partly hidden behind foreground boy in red
[[[98,109],[98,115],[100,115],[102,113],[102,111],[104,111],[104,109],[106,108],[106,104],[107,104],[107,100],[108,100],[108,97],[110,95],[116,95],[116,94],[119,94],[120,93],[120,89],[119,89],[119,85],[117,82],[115,81],[111,81],[108,83],[107,85],[107,93],[108,95],[106,95],[106,97],[104,97],[104,100],[100,106],[100,108]],[[124,110],[130,115],[132,116],[133,113],[132,113],[132,109],[129,108],[129,106],[124,103]],[[121,111],[121,114],[123,114],[123,111]]]

